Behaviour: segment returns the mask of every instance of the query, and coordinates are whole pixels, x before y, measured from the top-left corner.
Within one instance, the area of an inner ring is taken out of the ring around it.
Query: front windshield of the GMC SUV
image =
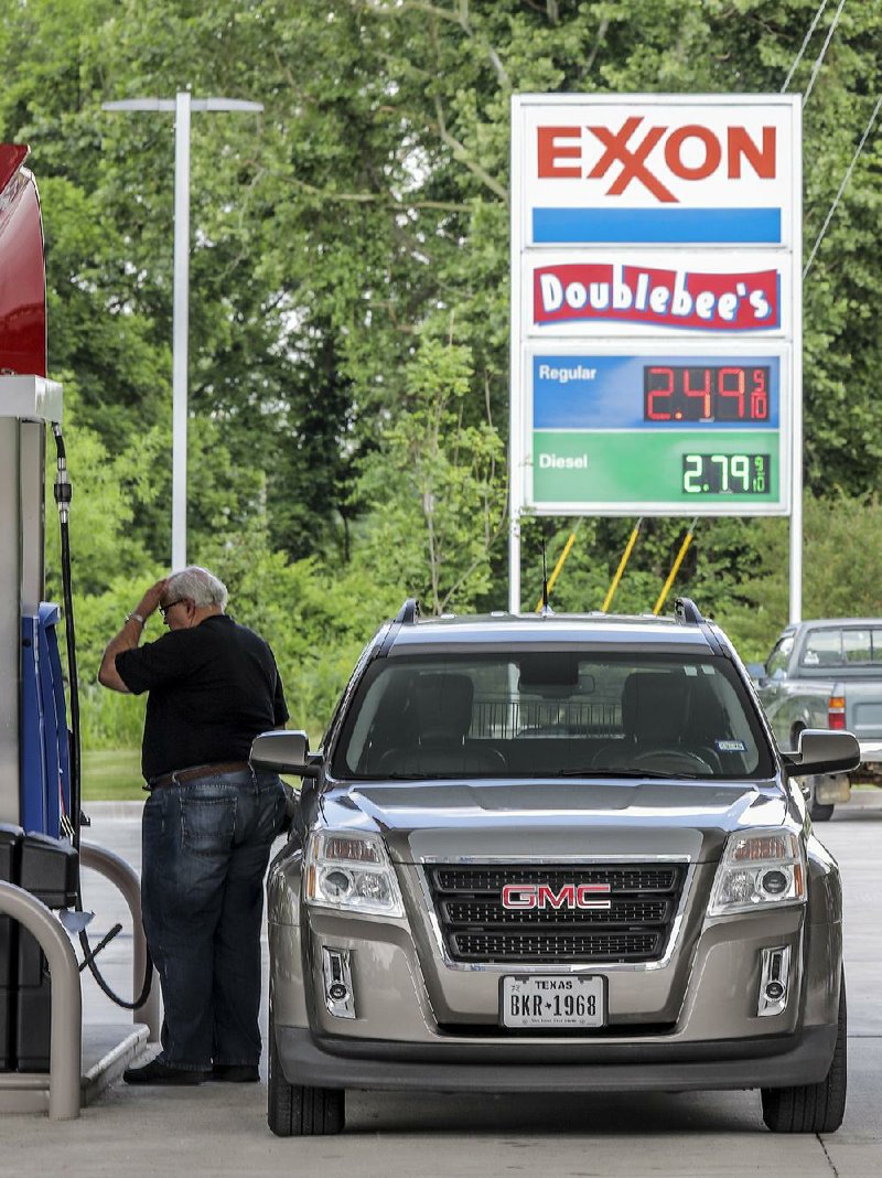
[[[725,659],[568,650],[377,659],[332,754],[336,777],[769,777]]]

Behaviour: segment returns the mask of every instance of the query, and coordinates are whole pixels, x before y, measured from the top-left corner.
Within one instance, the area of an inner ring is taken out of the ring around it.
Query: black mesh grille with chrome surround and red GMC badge
[[[426,868],[444,944],[455,961],[591,964],[657,961],[679,902],[679,863],[439,863]],[[506,885],[606,884],[608,909],[505,908]]]

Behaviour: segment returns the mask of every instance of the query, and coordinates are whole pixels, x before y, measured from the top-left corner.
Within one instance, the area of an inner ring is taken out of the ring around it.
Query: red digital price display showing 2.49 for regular
[[[646,365],[643,419],[768,422],[769,366]]]

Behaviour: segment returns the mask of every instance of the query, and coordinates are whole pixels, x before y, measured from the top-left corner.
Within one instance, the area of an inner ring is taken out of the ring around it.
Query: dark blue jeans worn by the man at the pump
[[[285,820],[273,773],[154,789],[141,827],[141,914],[163,986],[163,1060],[211,1071],[260,1059],[260,922]]]

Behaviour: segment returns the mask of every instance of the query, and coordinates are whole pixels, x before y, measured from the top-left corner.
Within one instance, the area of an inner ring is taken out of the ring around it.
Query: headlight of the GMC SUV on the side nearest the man
[[[306,847],[306,902],[321,908],[403,916],[404,905],[380,839],[327,830]]]

